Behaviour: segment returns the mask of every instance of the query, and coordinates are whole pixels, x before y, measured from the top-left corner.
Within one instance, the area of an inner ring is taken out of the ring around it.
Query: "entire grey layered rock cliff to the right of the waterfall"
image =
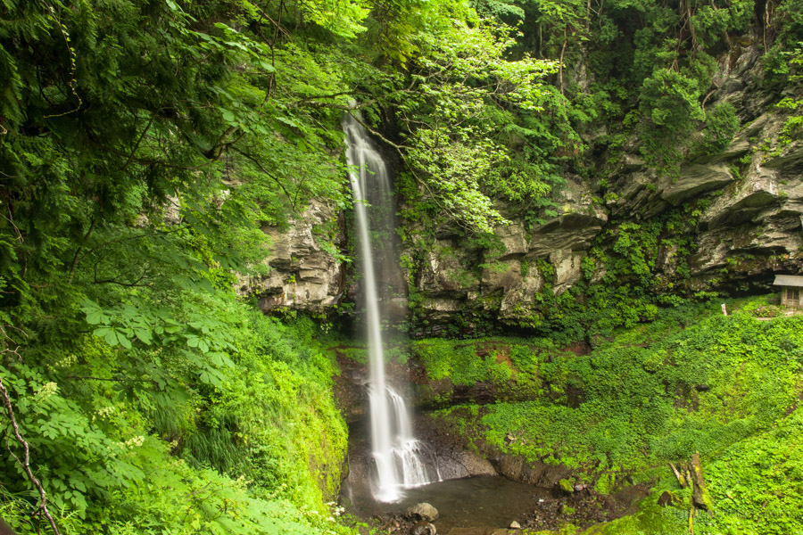
[[[419,332],[437,333],[439,324],[454,317],[463,317],[464,324],[466,317],[491,317],[529,325],[544,292],[559,296],[582,279],[592,246],[609,250],[613,242],[607,236],[617,235],[623,223],[642,224],[670,210],[687,214],[683,232],[691,239],[683,251],[671,242],[655,251],[658,272],[676,280],[684,255],[687,273],[682,284],[672,286],[674,292],[766,291],[774,273],[798,273],[803,269],[803,142],[779,141],[784,118],[772,105],[777,96],[766,94],[760,84],[759,60],[755,47],[720,58],[718,89],[708,95],[707,106],[730,103],[743,125],[723,151],[690,157],[678,175],[661,176],[633,144],[606,169],[604,181],[567,175],[555,199],[557,215],[537,225],[513,218],[509,226],[495,229],[498,246],[479,256],[442,231],[435,251],[448,249],[448,261],[410,274],[418,282],[418,319],[424,325]],[[598,264],[586,282],[599,283],[604,275],[605,267]]]

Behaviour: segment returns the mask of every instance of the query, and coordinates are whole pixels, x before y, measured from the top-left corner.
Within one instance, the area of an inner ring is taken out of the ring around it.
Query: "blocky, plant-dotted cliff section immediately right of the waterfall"
[[[516,219],[498,226],[496,243],[482,251],[461,246],[459,235],[446,232],[424,245],[425,259],[408,270],[418,295],[418,317],[437,332],[467,308],[502,320],[524,316],[547,282],[539,262],[552,266],[549,282],[556,294],[575,284],[582,259],[608,214],[579,177],[568,176],[556,197],[555,217],[530,227]],[[417,256],[416,247],[421,243],[412,243],[402,255]]]

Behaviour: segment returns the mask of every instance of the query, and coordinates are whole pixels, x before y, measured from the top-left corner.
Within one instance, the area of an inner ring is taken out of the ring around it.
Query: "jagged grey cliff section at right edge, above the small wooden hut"
[[[778,141],[783,118],[757,83],[758,60],[755,48],[739,49],[719,64],[709,102],[732,104],[742,124],[724,152],[687,163],[674,180],[655,177],[632,156],[613,185],[612,216],[652,218],[706,200],[697,205],[691,289],[766,284],[774,272],[803,268],[803,144]]]

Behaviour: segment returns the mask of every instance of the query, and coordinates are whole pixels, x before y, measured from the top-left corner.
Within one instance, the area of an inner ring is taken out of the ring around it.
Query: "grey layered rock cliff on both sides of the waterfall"
[[[584,259],[592,247],[612,246],[606,236],[616,235],[623,223],[642,223],[671,210],[688,208],[685,232],[692,243],[683,252],[688,273],[673,291],[768,288],[774,273],[798,273],[803,268],[803,144],[778,141],[783,118],[772,103],[780,95],[761,89],[758,60],[757,48],[738,46],[720,58],[718,89],[706,105],[732,104],[741,129],[723,152],[687,161],[679,176],[658,176],[642,161],[634,140],[617,163],[597,165],[604,170],[604,184],[599,177],[567,173],[566,185],[555,192],[553,215],[538,224],[514,217],[509,226],[495,229],[495,243],[483,245],[468,246],[448,228],[428,229],[426,240],[404,243],[401,264],[419,332],[438,333],[455,317],[524,325],[523,318],[542,306],[546,286],[560,296],[583,277],[588,284],[600,282],[604,266],[589,262],[584,273]],[[594,136],[586,141],[593,145]],[[317,226],[335,219],[343,217],[316,202],[287,231],[266,228],[274,242],[267,260],[272,271],[244,284],[244,291],[257,292],[266,311],[321,312],[343,295],[350,297],[344,266],[321,249],[315,234]],[[426,234],[418,222],[406,225],[409,235]],[[332,242],[342,246],[344,226],[339,228]],[[677,246],[658,248],[656,269],[675,276]],[[473,320],[466,321],[470,327]]]

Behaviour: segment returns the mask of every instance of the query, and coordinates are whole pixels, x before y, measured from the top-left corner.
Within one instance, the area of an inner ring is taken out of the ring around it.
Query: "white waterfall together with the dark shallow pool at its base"
[[[610,498],[603,502],[590,494],[575,492],[567,496],[554,488],[538,488],[499,476],[441,481],[436,450],[416,440],[401,391],[391,389],[385,377],[381,321],[390,317],[388,303],[393,292],[389,287],[393,286],[393,270],[398,269],[392,245],[390,175],[360,123],[347,115],[343,128],[348,139],[346,158],[351,166],[370,368],[370,417],[350,430],[350,441],[359,444],[360,451],[369,449],[371,453],[365,457],[368,462],[358,461],[350,471],[349,478],[357,479],[347,486],[346,496],[355,513],[365,519],[391,514],[395,515],[391,518],[403,521],[407,507],[426,502],[439,511],[435,522],[437,530],[444,533],[452,528],[485,533],[509,526],[512,520],[526,527],[557,529],[566,521],[590,525],[625,514],[634,500],[646,496],[646,491],[632,487],[622,490],[622,496],[614,502]],[[368,424],[367,430],[364,424]],[[452,462],[462,463],[457,457]],[[396,525],[407,529],[403,523]]]

